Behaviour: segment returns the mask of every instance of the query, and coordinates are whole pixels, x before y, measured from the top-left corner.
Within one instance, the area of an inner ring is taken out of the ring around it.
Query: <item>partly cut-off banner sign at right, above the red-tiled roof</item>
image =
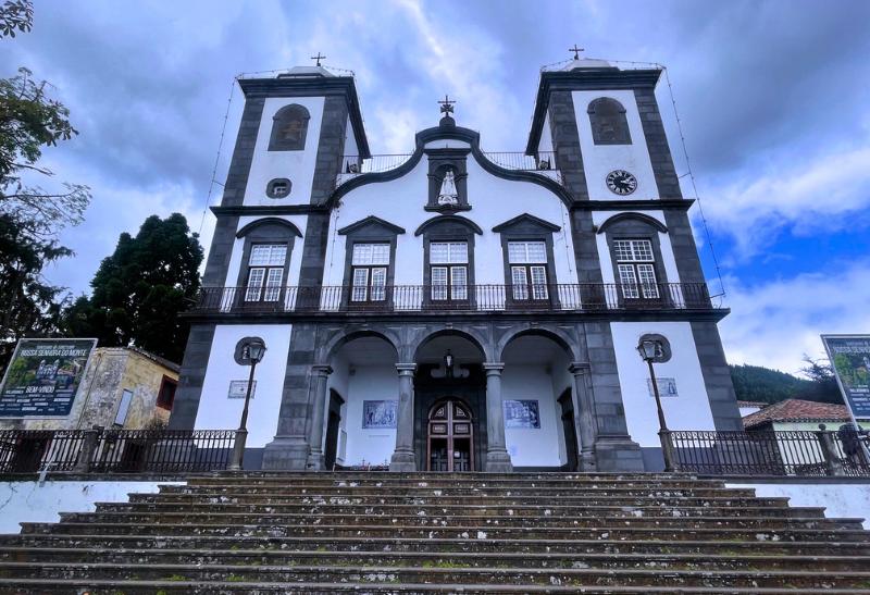
[[[836,382],[855,418],[870,418],[870,335],[822,335]]]

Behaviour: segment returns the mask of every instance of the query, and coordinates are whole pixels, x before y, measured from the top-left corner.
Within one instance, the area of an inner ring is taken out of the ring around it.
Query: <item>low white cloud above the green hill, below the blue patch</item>
[[[823,357],[822,333],[870,333],[870,259],[832,262],[755,287],[728,280],[732,313],[720,323],[730,363],[796,372],[804,354]]]

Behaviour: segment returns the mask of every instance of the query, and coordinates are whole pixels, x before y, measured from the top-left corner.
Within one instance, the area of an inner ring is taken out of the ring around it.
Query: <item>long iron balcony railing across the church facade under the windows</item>
[[[195,312],[706,310],[704,283],[203,287]]]

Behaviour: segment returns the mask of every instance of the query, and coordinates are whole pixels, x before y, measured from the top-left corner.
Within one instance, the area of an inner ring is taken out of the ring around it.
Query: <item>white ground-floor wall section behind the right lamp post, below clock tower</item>
[[[678,396],[661,394],[671,430],[714,430],[692,326],[688,322],[611,322],[622,402],[629,434],[641,446],[659,446],[656,400],[649,392],[649,369],[637,355],[642,335],[659,334],[671,345],[672,357],[655,363],[656,377],[673,379]],[[593,370],[595,373],[595,370]]]

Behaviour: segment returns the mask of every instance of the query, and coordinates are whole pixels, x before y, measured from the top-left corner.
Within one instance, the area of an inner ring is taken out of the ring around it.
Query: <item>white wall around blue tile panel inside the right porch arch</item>
[[[539,429],[505,429],[505,441],[514,467],[559,467],[567,461],[557,396],[552,394],[552,379],[544,365],[505,365],[501,399],[537,400],[540,418]]]

